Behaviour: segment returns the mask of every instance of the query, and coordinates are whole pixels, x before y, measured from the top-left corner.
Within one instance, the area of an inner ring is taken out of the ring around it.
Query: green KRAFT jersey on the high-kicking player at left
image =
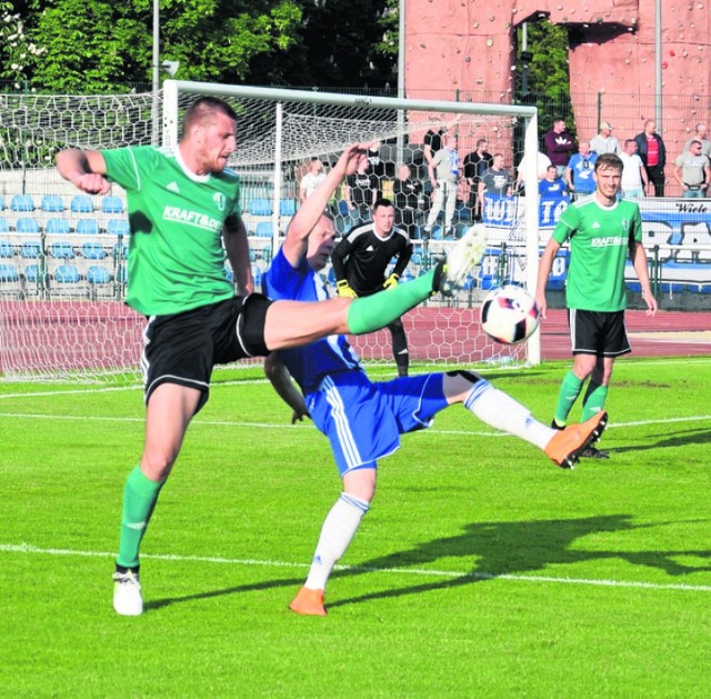
[[[222,226],[240,214],[237,174],[194,174],[178,149],[142,146],[101,154],[107,178],[127,192],[127,303],[144,316],[163,316],[233,297]]]

